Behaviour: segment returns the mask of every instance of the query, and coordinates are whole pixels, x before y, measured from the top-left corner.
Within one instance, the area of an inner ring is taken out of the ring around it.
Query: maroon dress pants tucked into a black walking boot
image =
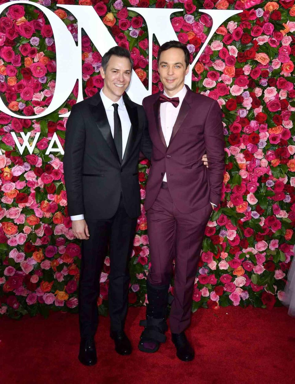
[[[190,324],[194,281],[211,213],[210,202],[190,214],[181,213],[173,204],[167,183],[162,184],[155,202],[147,211],[152,264],[148,281],[151,285],[170,283],[175,259],[174,300],[170,311],[172,333],[181,333]]]

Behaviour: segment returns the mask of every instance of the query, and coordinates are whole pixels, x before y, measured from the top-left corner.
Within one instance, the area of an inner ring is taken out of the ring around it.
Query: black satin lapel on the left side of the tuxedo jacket
[[[105,112],[104,104],[102,103],[101,98],[99,98],[99,102],[96,105],[89,105],[89,109],[94,115],[97,127],[101,132],[102,136],[104,137],[105,141],[107,142],[107,145],[110,147],[110,150],[113,152],[117,161],[120,162],[112,132],[110,131],[110,124],[107,119],[107,114]]]

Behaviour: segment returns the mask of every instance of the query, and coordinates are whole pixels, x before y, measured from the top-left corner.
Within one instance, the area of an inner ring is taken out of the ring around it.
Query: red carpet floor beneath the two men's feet
[[[0,320],[0,383],[4,384],[293,384],[295,319],[286,308],[198,310],[187,331],[196,358],[181,362],[171,334],[155,354],[137,349],[144,308],[129,308],[126,332],[134,347],[119,356],[109,338],[109,318],[96,334],[98,363],[78,360],[78,316],[51,313]]]

